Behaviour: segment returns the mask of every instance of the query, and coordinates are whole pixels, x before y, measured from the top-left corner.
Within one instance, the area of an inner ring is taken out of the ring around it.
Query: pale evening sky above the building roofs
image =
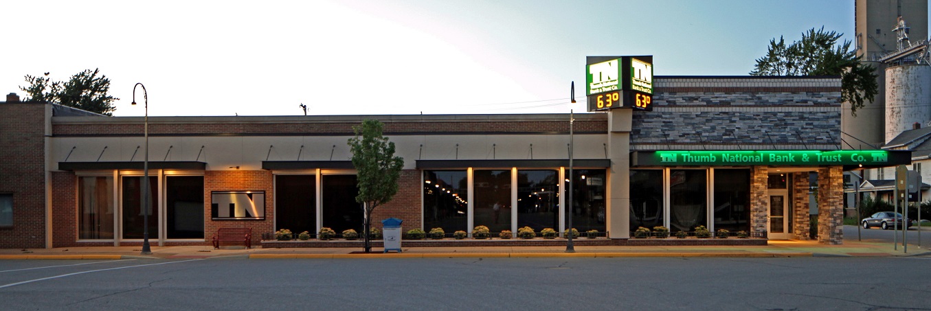
[[[770,39],[854,38],[853,0],[11,1],[0,91],[100,68],[116,116],[585,112],[586,56],[746,75]],[[570,83],[578,103],[571,104]],[[581,95],[580,95],[581,94]],[[142,89],[136,92],[142,102]]]

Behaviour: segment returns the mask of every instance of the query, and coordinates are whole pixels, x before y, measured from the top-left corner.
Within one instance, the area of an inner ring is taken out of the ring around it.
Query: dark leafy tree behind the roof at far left
[[[119,100],[107,94],[110,91],[110,79],[100,74],[101,70],[85,70],[74,74],[68,81],[52,81],[47,77],[26,74],[29,87],[20,87],[26,92],[26,101],[57,102],[65,106],[97,113],[113,115],[116,110],[114,101]]]

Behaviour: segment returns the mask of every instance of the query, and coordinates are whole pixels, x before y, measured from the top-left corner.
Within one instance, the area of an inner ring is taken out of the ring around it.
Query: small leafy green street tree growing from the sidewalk
[[[387,203],[398,193],[398,179],[404,159],[395,156],[395,143],[382,136],[382,122],[364,120],[353,127],[356,137],[349,139],[352,164],[358,174],[358,196],[365,212],[365,252],[371,252],[371,211]]]

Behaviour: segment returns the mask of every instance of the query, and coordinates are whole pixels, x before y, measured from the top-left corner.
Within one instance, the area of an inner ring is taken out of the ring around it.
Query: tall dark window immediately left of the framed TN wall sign
[[[168,238],[204,238],[204,177],[165,178]]]

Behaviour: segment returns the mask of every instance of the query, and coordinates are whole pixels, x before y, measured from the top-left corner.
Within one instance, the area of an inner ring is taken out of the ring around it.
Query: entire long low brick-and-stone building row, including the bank
[[[840,244],[843,170],[910,159],[839,150],[838,77],[654,83],[652,112],[575,115],[573,176],[562,114],[149,117],[150,238],[208,245],[223,226],[251,227],[256,239],[281,228],[359,230],[346,142],[366,118],[385,123],[405,160],[398,195],[373,217],[446,232],[561,232],[568,184],[560,181],[573,178],[580,231],[626,239],[638,226],[706,225],[806,239],[815,172],[818,239]],[[140,245],[143,118],[60,107],[0,103],[0,221],[12,220],[0,223],[0,246]]]

